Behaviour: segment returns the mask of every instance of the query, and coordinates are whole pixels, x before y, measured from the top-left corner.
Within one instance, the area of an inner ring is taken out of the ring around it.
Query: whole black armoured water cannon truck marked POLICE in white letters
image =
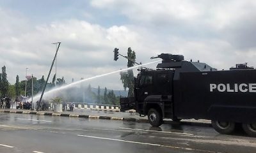
[[[139,69],[134,97],[121,98],[121,111],[135,109],[152,126],[163,119],[211,120],[212,127],[230,134],[242,125],[256,136],[256,69],[247,64],[218,71],[204,62],[184,61],[183,55],[161,54],[157,69]]]

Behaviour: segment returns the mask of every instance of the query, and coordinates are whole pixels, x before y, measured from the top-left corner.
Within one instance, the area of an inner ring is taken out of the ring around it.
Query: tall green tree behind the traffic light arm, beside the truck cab
[[[135,61],[135,59],[136,59],[136,53],[131,50],[131,47],[128,48],[127,57],[129,57],[129,59],[132,59],[133,61]],[[127,68],[130,68],[132,66],[134,66],[134,62],[132,62],[131,60],[128,60]],[[120,80],[122,80],[124,89],[125,90],[127,88],[129,89],[128,97],[132,97],[134,94],[133,93],[133,90],[134,90],[133,77],[134,77],[134,75],[133,75],[132,69],[129,69],[127,72],[120,73]]]

